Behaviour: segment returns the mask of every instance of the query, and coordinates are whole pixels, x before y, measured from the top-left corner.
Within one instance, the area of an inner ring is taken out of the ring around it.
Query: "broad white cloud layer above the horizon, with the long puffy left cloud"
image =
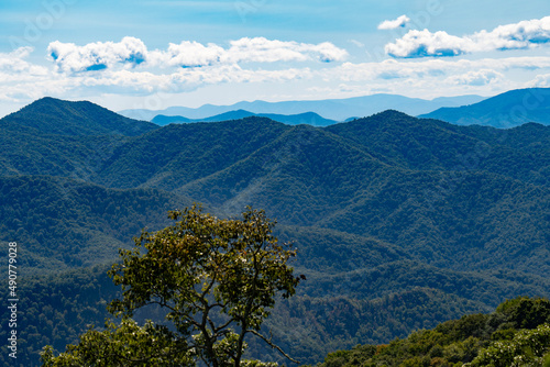
[[[263,68],[257,64],[341,59],[344,52],[332,44],[265,38],[242,38],[226,48],[188,42],[170,45],[166,51],[147,51],[135,41],[139,40],[124,38],[113,45],[90,44],[94,47],[86,48],[87,52],[70,44],[55,43],[51,51],[58,52],[57,59],[62,59],[63,55],[63,62],[54,62],[47,67],[30,62],[33,49],[29,47],[0,54],[0,102],[30,102],[44,96],[74,99],[103,93],[141,98],[158,92],[191,92],[220,85],[228,85],[228,89],[234,87],[235,90],[284,90],[288,91],[289,99],[299,91],[311,93],[310,99],[373,92],[415,93],[424,98],[439,97],[440,93],[487,96],[531,85],[548,86],[550,80],[550,57],[544,56],[389,58],[381,63],[317,63],[306,64],[305,67],[296,67],[300,64],[289,67],[283,63]],[[113,53],[103,55],[106,49]],[[136,52],[144,56],[143,62],[131,62],[129,55]],[[107,68],[84,71],[97,65],[94,63],[97,59],[90,55],[99,57]],[[191,65],[202,66],[182,67]],[[536,78],[537,75],[539,77]],[[531,80],[530,85],[527,86],[525,80]],[[245,84],[252,86],[242,87]]]

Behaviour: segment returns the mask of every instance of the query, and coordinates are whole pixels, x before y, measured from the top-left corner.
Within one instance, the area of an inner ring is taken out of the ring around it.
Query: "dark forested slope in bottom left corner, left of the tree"
[[[84,269],[42,271],[22,276],[18,280],[18,358],[0,354],[1,366],[40,366],[38,352],[46,344],[56,351],[78,336],[90,324],[102,325],[109,313],[107,302],[120,297],[120,290],[107,276],[110,266]],[[9,320],[9,310],[0,309],[0,318]],[[1,327],[0,337],[7,340],[10,329]]]

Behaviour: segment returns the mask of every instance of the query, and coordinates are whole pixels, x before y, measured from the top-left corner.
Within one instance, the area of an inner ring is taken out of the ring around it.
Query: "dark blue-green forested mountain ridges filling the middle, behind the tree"
[[[105,318],[59,321],[99,304],[68,287],[72,268],[113,262],[142,227],[165,226],[168,209],[193,201],[220,218],[265,209],[279,240],[295,242],[294,266],[308,280],[266,324],[301,363],[490,312],[506,298],[550,296],[550,127],[457,126],[396,111],[324,129],[121,120],[145,126],[135,135],[82,103],[44,99],[0,120],[0,240],[19,244],[20,297],[38,310],[29,324],[54,322],[40,311],[51,305],[45,294],[82,300],[54,308],[66,343]],[[42,124],[50,109],[62,126]],[[94,131],[78,121],[95,121]],[[26,292],[33,285],[45,290]],[[52,337],[22,344],[18,363],[32,366],[30,352],[45,344],[61,348]]]

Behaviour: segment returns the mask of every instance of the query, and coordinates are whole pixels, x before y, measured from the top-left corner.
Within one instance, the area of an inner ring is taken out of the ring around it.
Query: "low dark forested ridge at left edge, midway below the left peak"
[[[191,203],[152,189],[106,189],[51,176],[0,177],[0,241],[21,245],[18,264],[25,275],[111,262],[142,229],[165,226],[168,210]]]

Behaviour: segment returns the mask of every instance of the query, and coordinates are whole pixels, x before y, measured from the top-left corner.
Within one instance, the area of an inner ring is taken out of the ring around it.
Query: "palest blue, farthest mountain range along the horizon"
[[[442,107],[459,107],[482,101],[480,96],[442,97],[433,100],[408,98],[397,94],[373,94],[348,99],[328,99],[317,101],[286,101],[286,102],[239,102],[231,105],[205,104],[193,109],[186,107],[170,107],[165,110],[124,110],[119,113],[128,118],[151,121],[158,114],[180,115],[187,119],[207,119],[221,113],[244,110],[254,114],[293,115],[307,112],[317,113],[324,119],[344,121],[350,116],[369,116],[385,110],[398,110],[410,115],[428,113]]]

